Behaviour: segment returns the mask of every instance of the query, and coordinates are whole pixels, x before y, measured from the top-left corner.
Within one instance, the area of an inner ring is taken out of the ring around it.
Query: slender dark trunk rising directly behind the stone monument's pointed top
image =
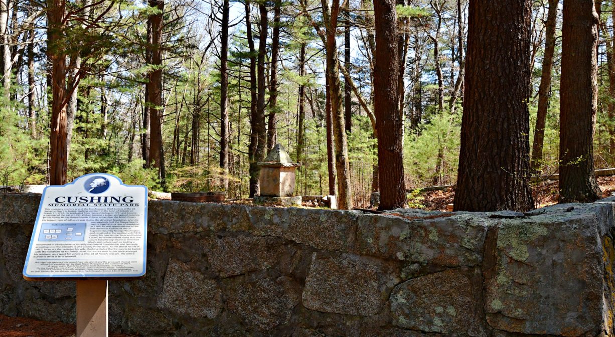
[[[277,143],[277,61],[280,54],[281,1],[274,2],[273,35],[271,36],[271,81],[269,81],[269,121],[267,127],[267,151]]]

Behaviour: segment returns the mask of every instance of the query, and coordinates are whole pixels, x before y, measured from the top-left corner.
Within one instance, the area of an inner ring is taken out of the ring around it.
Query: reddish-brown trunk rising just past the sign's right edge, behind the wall
[[[158,175],[164,183],[164,164],[162,154],[162,14],[164,0],[149,0],[149,6],[158,9],[149,16],[152,30],[151,65],[154,70],[149,74],[149,165],[158,168]],[[164,186],[162,186],[164,188]]]

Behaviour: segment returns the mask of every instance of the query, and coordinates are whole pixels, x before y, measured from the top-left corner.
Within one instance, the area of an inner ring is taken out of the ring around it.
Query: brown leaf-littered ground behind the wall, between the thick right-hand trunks
[[[615,192],[615,176],[599,176],[598,184],[602,191],[602,197],[610,197]],[[536,208],[557,204],[559,182],[547,180],[532,184],[532,196]],[[445,191],[421,192],[414,200],[415,204],[423,205],[425,210],[446,211],[446,205],[453,204],[455,192],[452,188]]]

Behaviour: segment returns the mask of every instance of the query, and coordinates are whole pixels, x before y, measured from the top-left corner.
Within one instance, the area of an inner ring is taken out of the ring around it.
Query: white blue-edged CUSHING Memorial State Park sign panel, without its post
[[[42,192],[26,279],[145,275],[148,189],[106,173]]]

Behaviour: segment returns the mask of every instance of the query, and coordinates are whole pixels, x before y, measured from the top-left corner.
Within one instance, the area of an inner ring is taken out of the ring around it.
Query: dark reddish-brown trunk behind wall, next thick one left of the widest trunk
[[[399,114],[399,48],[395,0],[374,2],[376,63],[374,106],[378,130],[378,210],[408,207],[403,180],[403,120]]]

